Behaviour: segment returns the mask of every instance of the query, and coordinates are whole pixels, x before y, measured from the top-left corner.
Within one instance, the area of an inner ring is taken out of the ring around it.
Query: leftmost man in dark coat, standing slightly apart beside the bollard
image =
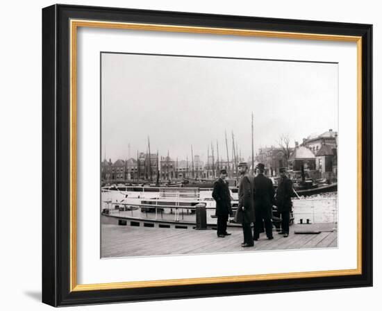
[[[216,201],[215,215],[217,216],[217,237],[231,235],[227,233],[227,221],[232,215],[231,193],[229,184],[226,181],[226,169],[220,170],[220,177],[213,185],[213,199]]]

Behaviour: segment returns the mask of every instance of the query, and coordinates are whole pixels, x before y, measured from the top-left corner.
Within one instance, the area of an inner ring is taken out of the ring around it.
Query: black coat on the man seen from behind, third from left
[[[272,217],[272,205],[274,203],[274,187],[272,180],[258,174],[254,178],[255,193],[254,193],[254,207],[255,214],[263,215],[263,217]]]

